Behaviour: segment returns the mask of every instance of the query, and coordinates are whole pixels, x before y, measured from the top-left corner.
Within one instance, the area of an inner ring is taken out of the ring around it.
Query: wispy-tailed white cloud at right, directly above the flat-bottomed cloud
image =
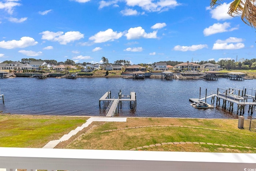
[[[230,28],[230,23],[228,22],[224,22],[223,24],[215,23],[212,26],[205,28],[203,33],[204,33],[204,36],[208,36],[216,33],[222,33],[226,31],[233,31],[235,29],[238,29],[238,28],[230,28],[230,29],[228,28]]]

